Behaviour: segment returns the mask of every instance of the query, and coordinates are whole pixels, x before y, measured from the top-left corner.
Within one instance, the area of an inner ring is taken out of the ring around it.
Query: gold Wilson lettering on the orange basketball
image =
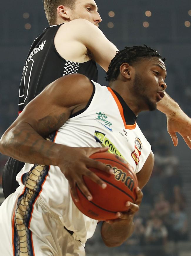
[[[134,180],[130,176],[128,176],[126,172],[123,172],[117,167],[112,167],[110,164],[106,165],[113,169],[115,180],[125,183],[125,186],[127,186],[131,191],[133,191]]]

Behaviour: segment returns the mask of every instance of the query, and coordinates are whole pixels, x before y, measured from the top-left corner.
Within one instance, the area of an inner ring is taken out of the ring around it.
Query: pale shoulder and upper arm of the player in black
[[[115,57],[118,49],[94,24],[86,19],[75,19],[62,25],[55,37],[55,46],[65,59],[82,61],[87,58],[87,50],[90,50],[93,59],[105,70]],[[64,46],[64,47],[63,47]],[[68,50],[71,49],[72,51]]]

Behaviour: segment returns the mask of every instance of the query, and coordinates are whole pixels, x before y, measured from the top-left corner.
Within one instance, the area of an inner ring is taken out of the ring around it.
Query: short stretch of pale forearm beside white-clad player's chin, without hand
[[[166,92],[163,99],[158,102],[157,109],[167,116],[172,116],[180,107]]]

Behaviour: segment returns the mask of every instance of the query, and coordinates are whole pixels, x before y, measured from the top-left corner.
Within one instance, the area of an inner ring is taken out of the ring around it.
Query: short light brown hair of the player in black
[[[56,10],[59,5],[74,9],[76,0],[43,0],[44,10],[49,25],[56,25]]]

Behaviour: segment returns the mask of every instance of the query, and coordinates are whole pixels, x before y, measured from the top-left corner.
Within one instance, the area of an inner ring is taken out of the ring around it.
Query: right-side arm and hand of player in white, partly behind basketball
[[[103,222],[101,236],[103,242],[108,247],[119,246],[132,235],[134,231],[133,217],[139,210],[139,205],[143,198],[143,193],[140,189],[147,184],[153,170],[153,165],[154,155],[151,151],[145,164],[143,165],[143,168],[137,174],[140,188],[137,188],[137,200],[135,204],[127,202],[127,210],[130,210],[128,213],[117,213],[118,219]],[[130,205],[128,205],[128,203],[130,203]]]

